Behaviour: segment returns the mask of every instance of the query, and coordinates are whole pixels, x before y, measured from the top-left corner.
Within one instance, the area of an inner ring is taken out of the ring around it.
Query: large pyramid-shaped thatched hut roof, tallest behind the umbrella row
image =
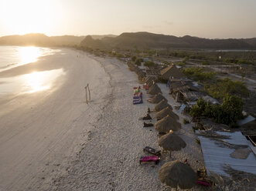
[[[160,78],[169,80],[171,79],[181,79],[186,77],[183,75],[183,72],[181,72],[179,69],[176,68],[176,65],[169,65],[166,69],[162,69],[160,71]]]

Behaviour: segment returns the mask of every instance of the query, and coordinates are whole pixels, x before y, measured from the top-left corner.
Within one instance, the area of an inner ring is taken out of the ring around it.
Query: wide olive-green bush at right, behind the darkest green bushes
[[[209,95],[216,99],[224,99],[225,95],[239,95],[241,97],[249,96],[249,90],[244,82],[232,81],[229,78],[217,79],[216,83],[206,85],[206,90]]]

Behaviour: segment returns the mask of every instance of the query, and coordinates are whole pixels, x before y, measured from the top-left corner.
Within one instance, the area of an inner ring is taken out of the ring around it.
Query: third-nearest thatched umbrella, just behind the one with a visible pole
[[[176,122],[176,119],[173,119],[172,117],[167,115],[166,117],[155,123],[155,129],[159,132],[169,132],[170,130],[178,131],[179,129],[181,129],[181,125],[179,122]]]

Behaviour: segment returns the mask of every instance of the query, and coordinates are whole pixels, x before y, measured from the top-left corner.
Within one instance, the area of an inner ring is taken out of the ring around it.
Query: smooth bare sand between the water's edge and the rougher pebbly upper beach
[[[61,54],[49,55],[0,76],[60,68],[66,75],[55,82],[55,88],[2,97],[0,190],[43,190],[52,177],[66,172],[106,105],[109,76],[84,52],[63,49]],[[85,103],[87,83],[97,111]]]

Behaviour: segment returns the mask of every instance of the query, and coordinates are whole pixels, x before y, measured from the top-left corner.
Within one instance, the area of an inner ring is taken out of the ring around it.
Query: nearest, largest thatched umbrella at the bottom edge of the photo
[[[178,160],[165,163],[159,169],[159,179],[167,186],[191,189],[196,184],[196,173],[185,163]]]

